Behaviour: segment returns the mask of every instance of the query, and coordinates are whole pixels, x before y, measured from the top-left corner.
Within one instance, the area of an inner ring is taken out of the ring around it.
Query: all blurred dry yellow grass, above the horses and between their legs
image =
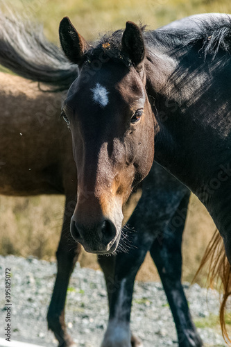
[[[0,0],[4,9],[6,0]],[[148,28],[162,26],[175,19],[198,12],[231,12],[230,0],[7,0],[8,6],[22,17],[44,22],[50,40],[58,42],[58,24],[68,15],[87,40],[95,40],[99,33],[122,28],[126,20],[143,22]],[[6,8],[5,8],[6,9]],[[35,255],[51,259],[55,255],[62,224],[60,196],[34,198],[0,197],[0,253],[6,255]],[[200,258],[214,232],[214,224],[205,208],[193,196],[183,243],[184,280],[191,280]],[[81,264],[97,267],[94,255],[83,253]],[[205,282],[204,274],[198,281]],[[138,278],[158,278],[151,258],[146,257]]]

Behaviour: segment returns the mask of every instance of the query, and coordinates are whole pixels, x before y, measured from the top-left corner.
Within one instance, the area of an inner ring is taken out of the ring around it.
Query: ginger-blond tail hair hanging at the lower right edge
[[[207,276],[208,287],[213,287],[213,284],[215,283],[216,285],[218,285],[219,291],[223,294],[221,298],[219,317],[221,324],[221,332],[225,341],[227,343],[231,343],[225,325],[225,305],[229,296],[231,295],[231,266],[225,255],[225,246],[223,244],[223,239],[218,230],[214,232],[214,235],[205,250],[205,254],[200,262],[198,271],[196,271],[194,280],[198,275],[199,271],[203,268],[203,266],[205,266],[205,264],[208,264],[209,266],[209,272]]]

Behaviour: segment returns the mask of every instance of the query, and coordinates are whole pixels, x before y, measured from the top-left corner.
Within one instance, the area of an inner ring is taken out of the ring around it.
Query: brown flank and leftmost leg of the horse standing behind
[[[76,168],[71,137],[60,116],[62,93],[42,92],[37,83],[0,73],[0,194],[65,194],[65,217],[56,253],[58,274],[49,309],[49,328],[62,346],[67,336],[64,307],[80,245],[69,237],[76,205]]]

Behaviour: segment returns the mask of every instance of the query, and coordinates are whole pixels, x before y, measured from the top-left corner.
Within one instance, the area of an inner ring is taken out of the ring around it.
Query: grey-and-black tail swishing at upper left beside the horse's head
[[[0,65],[32,81],[67,90],[78,76],[61,49],[44,37],[41,25],[0,11]]]

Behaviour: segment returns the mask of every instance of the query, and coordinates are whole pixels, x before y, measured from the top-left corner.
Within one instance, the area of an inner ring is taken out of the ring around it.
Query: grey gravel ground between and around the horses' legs
[[[41,346],[57,346],[46,327],[55,262],[35,258],[0,256],[0,337],[6,325],[5,269],[12,272],[12,339]],[[185,284],[191,314],[195,321],[219,312],[216,291]],[[100,346],[108,319],[108,302],[101,271],[76,266],[67,295],[66,321],[79,347]],[[132,330],[143,340],[144,347],[178,346],[173,319],[159,282],[136,282],[132,306]],[[205,346],[225,345],[221,332],[198,328]],[[10,346],[10,344],[9,344]]]

